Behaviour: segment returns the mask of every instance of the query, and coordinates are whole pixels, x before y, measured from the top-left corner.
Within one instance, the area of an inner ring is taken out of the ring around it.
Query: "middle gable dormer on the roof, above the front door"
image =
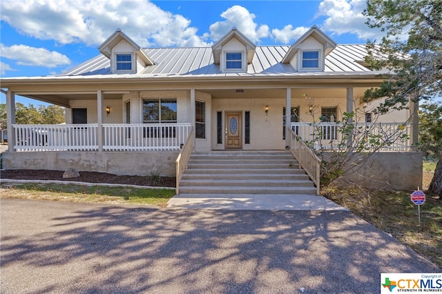
[[[236,28],[213,44],[212,53],[215,64],[222,72],[245,72],[253,60],[256,45]]]

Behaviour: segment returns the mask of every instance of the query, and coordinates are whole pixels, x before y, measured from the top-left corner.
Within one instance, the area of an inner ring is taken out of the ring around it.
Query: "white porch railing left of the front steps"
[[[17,151],[99,150],[97,124],[14,124]],[[191,124],[103,124],[103,150],[180,150]]]

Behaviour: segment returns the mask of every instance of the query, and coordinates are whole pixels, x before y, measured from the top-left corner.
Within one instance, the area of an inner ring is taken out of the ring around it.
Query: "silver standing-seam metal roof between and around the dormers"
[[[361,65],[367,50],[365,44],[338,45],[325,57],[324,72],[298,72],[290,64],[281,63],[289,46],[256,46],[255,56],[247,67],[247,72],[221,72],[220,66],[213,61],[211,47],[197,48],[146,48],[144,52],[155,63],[146,66],[136,74],[124,74],[127,77],[158,76],[266,76],[266,75],[337,75],[338,73],[355,74],[374,73]],[[110,76],[111,61],[104,55],[81,63],[66,76],[97,77]],[[122,75],[116,75],[122,77]]]

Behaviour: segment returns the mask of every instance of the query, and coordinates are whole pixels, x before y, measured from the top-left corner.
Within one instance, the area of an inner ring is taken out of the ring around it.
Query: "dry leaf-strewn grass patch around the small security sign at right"
[[[434,168],[425,170],[423,182],[430,184]],[[367,191],[355,186],[334,186],[323,189],[323,195],[362,217],[370,224],[389,233],[417,253],[442,266],[442,199],[426,193],[421,205],[419,225],[418,206],[411,202],[410,191]]]

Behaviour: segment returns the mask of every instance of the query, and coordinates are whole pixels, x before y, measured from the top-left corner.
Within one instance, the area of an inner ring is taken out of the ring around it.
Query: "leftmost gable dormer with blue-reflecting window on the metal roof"
[[[153,65],[142,48],[120,29],[108,37],[98,50],[111,59],[112,73],[136,73],[139,68]]]

